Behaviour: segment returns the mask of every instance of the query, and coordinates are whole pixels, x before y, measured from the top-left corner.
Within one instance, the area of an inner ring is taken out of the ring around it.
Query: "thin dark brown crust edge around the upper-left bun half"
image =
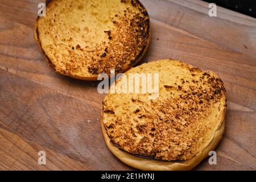
[[[49,3],[51,3],[52,1],[54,0],[48,0],[46,1],[46,7],[49,6]],[[147,14],[147,11],[146,11],[146,8],[142,5],[141,2],[137,1],[137,3],[139,3],[140,6],[143,7],[143,10],[146,12]],[[147,14],[147,17],[148,19],[150,20],[150,17],[148,16]],[[48,65],[53,68],[55,70],[56,73],[59,73],[61,75],[64,75],[64,76],[69,76],[69,77],[72,77],[72,78],[76,78],[76,79],[79,79],[79,80],[86,80],[86,81],[96,81],[98,76],[89,76],[89,77],[86,77],[86,76],[77,76],[77,75],[72,75],[72,74],[69,74],[67,72],[62,72],[62,71],[57,71],[56,69],[56,66],[55,64],[53,64],[53,62],[51,61],[51,59],[49,59],[49,57],[47,56],[46,52],[44,52],[43,48],[42,48],[42,43],[40,41],[40,38],[39,38],[39,31],[38,31],[38,21],[39,21],[40,17],[38,16],[37,19],[36,19],[36,22],[35,22],[35,28],[34,28],[34,39],[36,41],[36,43],[38,44],[38,47],[40,48],[40,50],[43,52],[43,55],[48,63]],[[151,39],[151,26],[150,26],[150,21],[149,21],[149,31],[148,31],[148,38],[147,38],[147,43],[146,43],[146,46],[141,50],[141,52],[138,53],[138,57],[131,63],[129,64],[127,67],[121,69],[120,71],[116,71],[115,72],[115,75],[117,75],[118,73],[123,73],[125,71],[127,71],[128,69],[134,67],[136,64],[139,63],[139,61],[142,60],[142,57],[145,55],[145,53],[147,52],[147,49],[150,45],[150,39]],[[110,77],[110,74],[108,73],[108,76]]]

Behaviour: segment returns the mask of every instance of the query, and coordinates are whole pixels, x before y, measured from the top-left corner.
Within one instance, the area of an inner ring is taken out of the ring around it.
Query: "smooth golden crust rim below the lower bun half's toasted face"
[[[208,146],[204,148],[203,151],[193,156],[193,158],[186,160],[185,162],[161,162],[158,160],[140,158],[138,156],[127,154],[126,152],[119,150],[119,148],[111,142],[110,138],[106,134],[102,120],[101,130],[104,135],[106,146],[119,160],[128,166],[144,171],[189,171],[195,168],[202,160],[207,158],[209,152],[214,150],[218,143],[220,143],[225,132],[225,113],[222,115],[221,126],[214,132],[214,137]]]

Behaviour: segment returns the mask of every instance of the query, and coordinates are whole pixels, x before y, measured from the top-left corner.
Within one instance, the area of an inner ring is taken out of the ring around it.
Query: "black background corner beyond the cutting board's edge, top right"
[[[256,0],[203,0],[256,18]]]

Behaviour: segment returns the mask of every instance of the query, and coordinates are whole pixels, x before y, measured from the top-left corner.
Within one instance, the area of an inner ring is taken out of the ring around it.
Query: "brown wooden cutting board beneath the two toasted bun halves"
[[[97,83],[58,75],[36,45],[38,3],[0,3],[0,169],[133,169],[105,146],[104,95]],[[174,58],[216,72],[224,81],[226,133],[217,165],[196,170],[256,169],[256,19],[203,1],[143,0],[152,38],[143,61]],[[46,151],[46,165],[38,152]]]

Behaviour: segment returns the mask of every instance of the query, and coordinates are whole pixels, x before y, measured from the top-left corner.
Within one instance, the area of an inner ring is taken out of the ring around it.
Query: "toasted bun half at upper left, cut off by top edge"
[[[35,23],[35,40],[57,73],[97,80],[125,72],[150,43],[150,18],[138,0],[52,0]]]

